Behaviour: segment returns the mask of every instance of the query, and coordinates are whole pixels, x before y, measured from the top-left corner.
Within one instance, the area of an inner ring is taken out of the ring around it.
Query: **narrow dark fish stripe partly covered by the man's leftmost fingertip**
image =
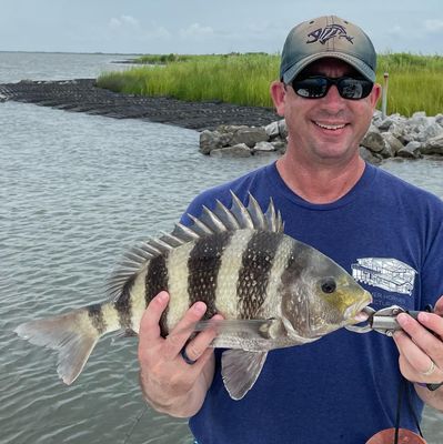
[[[149,261],[147,279],[145,279],[145,293],[144,301],[148,304],[152,299],[159,294],[162,290],[168,290],[168,266],[167,266],[168,253],[159,254]],[[167,319],[168,307],[160,317],[160,332],[162,336],[168,334]]]

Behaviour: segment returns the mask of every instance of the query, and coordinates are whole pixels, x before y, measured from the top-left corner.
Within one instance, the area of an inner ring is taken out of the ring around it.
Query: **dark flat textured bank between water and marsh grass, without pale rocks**
[[[215,130],[222,124],[262,127],[279,119],[268,108],[117,93],[97,88],[95,79],[22,80],[0,84],[0,102],[9,100],[113,119],[139,119],[197,131]]]

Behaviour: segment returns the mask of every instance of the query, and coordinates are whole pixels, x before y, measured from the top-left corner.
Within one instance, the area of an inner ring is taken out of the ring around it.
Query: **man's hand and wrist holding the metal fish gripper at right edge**
[[[442,316],[443,296],[436,302],[434,313],[420,313],[420,322],[405,313],[399,314],[397,321],[404,331],[395,332],[394,341],[400,351],[400,370],[406,380],[426,384],[443,382]],[[443,411],[443,385],[434,392],[419,384],[414,386],[423,402]]]

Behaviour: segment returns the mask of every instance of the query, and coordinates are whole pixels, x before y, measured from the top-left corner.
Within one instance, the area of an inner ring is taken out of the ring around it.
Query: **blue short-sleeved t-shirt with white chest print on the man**
[[[373,295],[375,309],[423,310],[443,294],[443,202],[366,164],[340,200],[312,204],[295,195],[275,164],[199,195],[188,212],[230,205],[232,190],[248,192],[263,210],[272,196],[285,233],[332,258]],[[185,219],[184,219],[185,220]],[[214,381],[190,418],[199,444],[365,443],[394,426],[400,384],[399,353],[391,337],[341,329],[319,341],[271,351],[255,385],[233,401],[224,389],[217,351]],[[423,403],[412,390],[421,414]],[[403,402],[401,426],[416,430]]]

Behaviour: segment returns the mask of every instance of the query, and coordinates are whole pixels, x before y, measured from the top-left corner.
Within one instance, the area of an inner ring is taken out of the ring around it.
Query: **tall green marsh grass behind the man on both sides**
[[[147,56],[125,72],[100,75],[98,84],[117,92],[168,95],[187,101],[223,101],[272,107],[269,87],[279,77],[279,54]],[[164,63],[158,65],[157,63]],[[443,57],[379,56],[377,81],[389,72],[387,113],[443,112]],[[381,103],[379,103],[381,107]]]

